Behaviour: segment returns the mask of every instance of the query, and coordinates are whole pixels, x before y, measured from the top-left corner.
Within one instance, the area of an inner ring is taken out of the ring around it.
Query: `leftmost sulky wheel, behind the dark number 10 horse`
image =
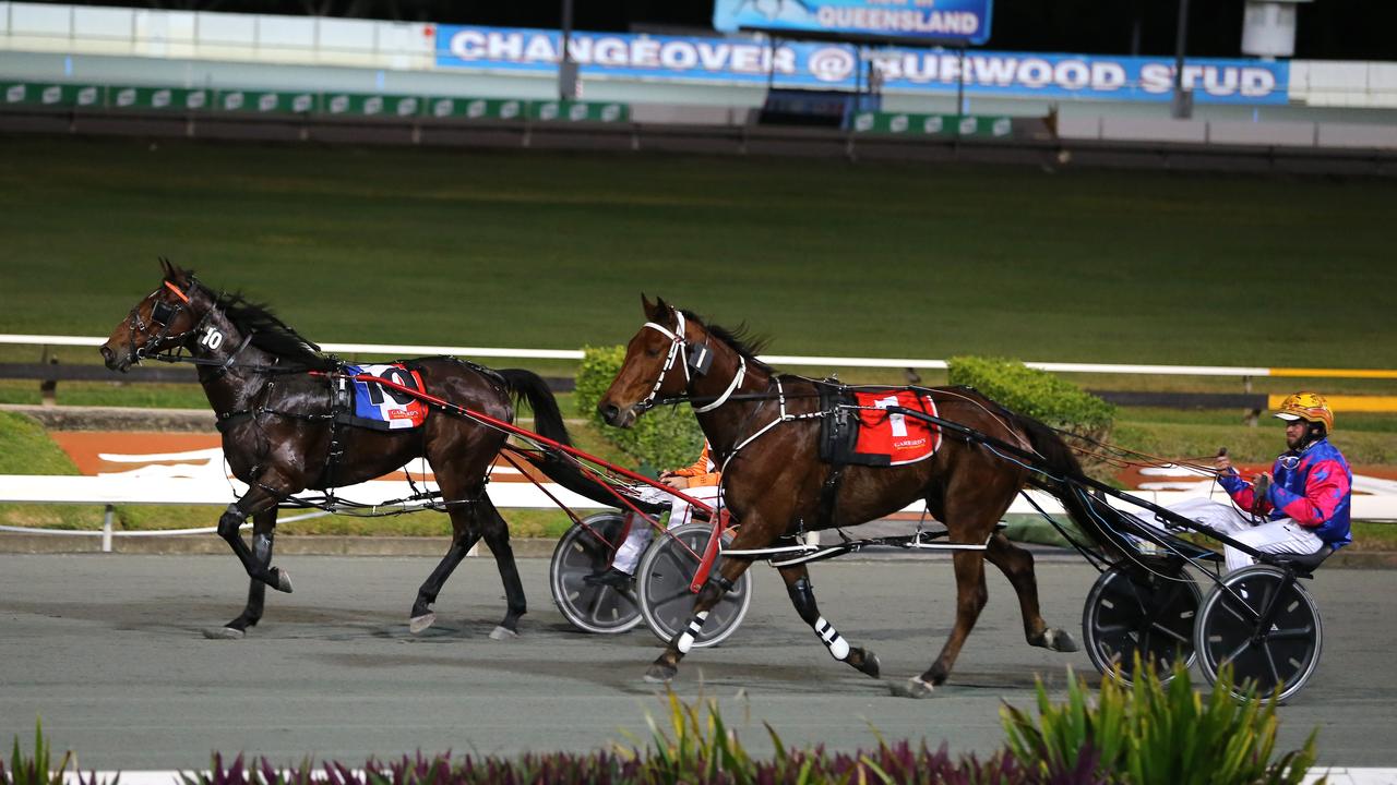
[[[573,524],[553,549],[553,562],[548,568],[553,603],[571,626],[584,633],[624,633],[640,624],[640,608],[633,592],[583,582],[584,577],[610,566],[624,528],[622,513],[598,513]]]

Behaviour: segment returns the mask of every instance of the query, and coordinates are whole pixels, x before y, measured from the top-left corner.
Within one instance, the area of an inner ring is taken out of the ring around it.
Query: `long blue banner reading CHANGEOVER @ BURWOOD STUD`
[[[557,70],[557,31],[440,25],[436,35],[439,68]],[[777,87],[852,91],[866,85],[869,68],[876,68],[884,92],[953,94],[964,78],[971,96],[1166,102],[1173,94],[1172,57],[981,50],[963,56],[939,49],[799,42],[773,47],[749,38],[599,32],[574,32],[570,52],[584,78],[708,84],[770,78]],[[1193,91],[1196,103],[1285,103],[1289,63],[1186,60],[1183,87]]]

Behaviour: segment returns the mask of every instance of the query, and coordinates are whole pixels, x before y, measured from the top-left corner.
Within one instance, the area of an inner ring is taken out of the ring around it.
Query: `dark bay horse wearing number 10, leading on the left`
[[[126,372],[141,359],[183,349],[198,365],[198,379],[218,415],[224,455],[247,493],[218,520],[251,578],[247,606],[205,636],[240,638],[263,616],[265,587],[291,591],[285,570],[271,566],[277,507],[293,493],[363,482],[425,457],[436,474],[451,517],[451,546],[418,591],[411,630],[420,633],[436,615],[432,603],[467,552],[485,539],[504,584],[506,615],[490,637],[518,631],[527,606],[509,528],[485,493],[486,472],[506,434],[475,420],[432,413],[407,430],[372,430],[337,425],[332,411],[334,358],[320,353],[265,307],[239,295],[215,295],[191,272],[161,261],[165,277],[136,303],[102,345],[112,370]],[[557,401],[527,370],[489,370],[454,358],[404,360],[432,394],[500,420],[513,420],[513,399],[525,398],[535,427],[569,443]],[[513,398],[513,399],[511,399]],[[253,518],[251,546],[237,529]]]

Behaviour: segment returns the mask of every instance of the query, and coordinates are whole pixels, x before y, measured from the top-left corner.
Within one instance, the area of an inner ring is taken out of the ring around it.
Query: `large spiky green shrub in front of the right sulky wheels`
[[[1132,785],[1298,785],[1315,764],[1315,733],[1305,747],[1271,763],[1275,751],[1275,701],[1236,701],[1232,669],[1224,668],[1208,696],[1189,683],[1189,670],[1173,663],[1173,679],[1161,684],[1153,668],[1123,686],[1111,676],[1088,700],[1085,682],[1069,676],[1067,703],[1053,705],[1038,682],[1038,722],[1006,705],[1000,710],[1009,750],[1039,778],[1078,774],[1088,764],[1109,782]]]

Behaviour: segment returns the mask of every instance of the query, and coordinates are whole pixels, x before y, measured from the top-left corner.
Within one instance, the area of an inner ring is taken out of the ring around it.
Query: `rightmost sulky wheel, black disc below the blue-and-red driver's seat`
[[[1270,623],[1263,629],[1267,612]],[[1217,682],[1218,669],[1231,663],[1235,697],[1243,696],[1243,682],[1250,679],[1261,698],[1278,686],[1280,701],[1309,682],[1324,643],[1309,592],[1285,571],[1267,566],[1220,578],[1203,599],[1194,638],[1210,684]]]

